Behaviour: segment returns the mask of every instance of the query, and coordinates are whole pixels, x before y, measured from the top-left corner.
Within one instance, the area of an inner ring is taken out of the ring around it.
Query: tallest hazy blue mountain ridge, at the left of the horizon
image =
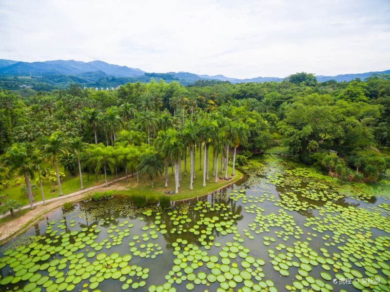
[[[6,65],[7,62],[8,65]],[[0,61],[0,75],[7,76],[78,75],[94,71],[102,71],[117,77],[136,77],[145,73],[138,68],[112,65],[102,61],[55,60],[31,63],[12,60]]]

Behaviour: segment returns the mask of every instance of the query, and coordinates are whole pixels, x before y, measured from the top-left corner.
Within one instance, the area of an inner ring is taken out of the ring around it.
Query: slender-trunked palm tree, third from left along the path
[[[68,154],[68,140],[66,140],[62,132],[57,131],[51,134],[49,137],[43,139],[41,142],[41,149],[44,151],[47,158],[56,167],[59,196],[62,196],[61,180],[59,179],[58,160],[59,155]]]

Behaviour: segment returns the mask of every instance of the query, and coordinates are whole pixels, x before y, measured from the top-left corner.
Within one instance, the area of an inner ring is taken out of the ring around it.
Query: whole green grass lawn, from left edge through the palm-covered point
[[[230,157],[232,157],[232,153],[229,154]],[[232,181],[240,178],[242,176],[242,173],[239,172],[237,169],[235,170],[235,175],[232,178],[232,180],[225,181],[225,180],[219,180],[219,177],[224,177],[223,174],[219,174],[220,171],[220,156],[219,156],[219,164],[218,164],[218,183],[214,183],[214,177],[213,177],[213,152],[212,148],[209,149],[209,180],[206,182],[206,186],[203,187],[203,170],[199,170],[199,152],[196,151],[195,156],[195,176],[196,179],[194,180],[193,186],[194,189],[190,190],[190,159],[187,157],[187,176],[184,175],[184,160],[181,161],[181,172],[182,172],[182,181],[180,182],[180,188],[179,193],[174,194],[172,196],[169,196],[171,200],[181,200],[186,198],[193,198],[201,195],[205,195],[209,192],[212,192],[213,190],[216,190],[220,188],[223,185],[226,185],[228,183],[231,183]],[[202,164],[203,164],[203,157],[202,157]],[[63,172],[63,168],[61,167],[59,169]],[[174,175],[171,175],[171,166],[168,169],[168,187],[165,188],[165,173],[163,173],[161,176],[154,178],[154,188],[151,188],[150,180],[144,176],[139,178],[139,183],[137,183],[136,174],[134,173],[134,177],[132,178],[129,173],[129,182],[126,183],[125,181],[121,181],[115,184],[115,186],[110,187],[110,189],[116,189],[115,191],[117,194],[122,195],[132,195],[132,194],[141,194],[145,195],[147,198],[152,199],[152,197],[158,198],[161,195],[164,195],[164,192],[166,190],[172,190],[175,192],[175,177]],[[61,183],[62,187],[62,193],[64,195],[76,192],[80,190],[80,181],[78,176],[72,176],[71,174],[65,172],[66,176],[63,179],[63,183]],[[232,167],[229,166],[228,168],[228,177],[230,177],[232,174]],[[118,174],[118,177],[122,177],[124,173]],[[113,180],[115,179],[115,175],[108,175],[107,180]],[[37,184],[37,189],[34,190],[34,199],[35,201],[42,201],[41,194],[40,194],[40,188],[39,188],[39,182],[34,182]],[[104,183],[104,175],[98,176],[98,183],[96,183],[95,180],[95,174],[89,175],[89,180],[87,180],[87,174],[83,173],[83,183],[84,188],[88,188],[97,184]],[[12,185],[8,188],[6,188],[3,192],[4,195],[7,196],[8,199],[13,199],[19,201],[21,204],[26,205],[29,203],[27,195],[21,194],[20,189],[24,185],[24,181],[20,183],[19,185]],[[52,191],[55,189],[55,191]],[[45,198],[51,199],[56,198],[59,196],[58,192],[58,186],[57,184],[53,183],[44,183],[43,184],[43,190],[45,193]],[[103,188],[104,190],[104,188]]]

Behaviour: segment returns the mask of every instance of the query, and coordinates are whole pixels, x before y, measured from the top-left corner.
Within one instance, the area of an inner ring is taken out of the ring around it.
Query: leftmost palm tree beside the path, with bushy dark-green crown
[[[30,183],[30,177],[34,178],[34,164],[31,160],[32,152],[32,145],[30,143],[14,143],[6,150],[1,158],[2,163],[8,166],[8,175],[12,175],[16,172],[18,175],[24,176],[31,209],[34,208],[34,198]]]

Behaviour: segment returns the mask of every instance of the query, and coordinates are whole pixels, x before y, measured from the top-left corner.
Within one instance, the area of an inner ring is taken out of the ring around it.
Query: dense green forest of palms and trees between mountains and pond
[[[187,155],[191,181],[195,163],[209,160],[217,180],[219,163],[228,177],[222,162],[234,173],[236,164],[271,146],[285,146],[287,154],[340,180],[370,183],[390,168],[389,144],[390,75],[318,83],[313,74],[296,73],[282,82],[235,85],[152,79],[114,91],[77,83],[48,92],[0,91],[1,189],[16,174],[30,198],[30,180],[41,182],[48,163],[56,168],[60,195],[59,165],[80,176],[137,172],[153,187],[153,178],[172,164],[177,192]],[[202,157],[209,147],[213,157]],[[205,185],[206,168],[203,174]]]

